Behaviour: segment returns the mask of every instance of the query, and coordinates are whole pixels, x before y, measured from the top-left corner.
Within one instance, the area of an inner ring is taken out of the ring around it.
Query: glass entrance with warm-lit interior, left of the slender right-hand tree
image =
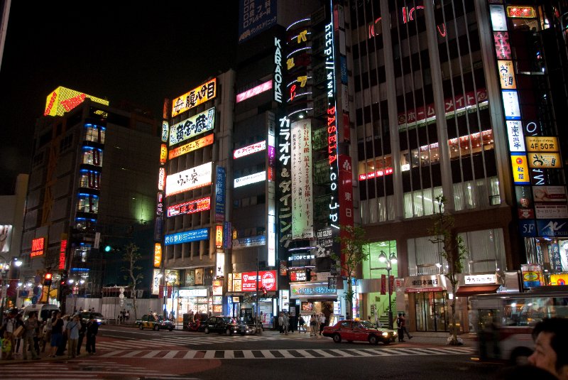
[[[415,293],[417,331],[448,331],[446,292]]]

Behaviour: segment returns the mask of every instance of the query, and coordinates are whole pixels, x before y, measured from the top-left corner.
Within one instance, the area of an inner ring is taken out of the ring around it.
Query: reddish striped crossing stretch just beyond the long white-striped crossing
[[[97,350],[99,349],[148,349],[148,347],[160,346],[197,346],[200,344],[217,344],[231,342],[256,342],[258,340],[280,340],[278,336],[263,335],[162,335],[154,339],[137,340],[97,340]]]

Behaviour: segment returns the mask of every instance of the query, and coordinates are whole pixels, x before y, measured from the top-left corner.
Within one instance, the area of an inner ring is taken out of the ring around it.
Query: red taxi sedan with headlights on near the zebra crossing
[[[333,326],[325,326],[322,333],[324,337],[331,337],[336,343],[342,340],[347,342],[366,341],[371,344],[389,344],[395,342],[397,332],[383,328],[377,328],[367,320],[340,320]]]

